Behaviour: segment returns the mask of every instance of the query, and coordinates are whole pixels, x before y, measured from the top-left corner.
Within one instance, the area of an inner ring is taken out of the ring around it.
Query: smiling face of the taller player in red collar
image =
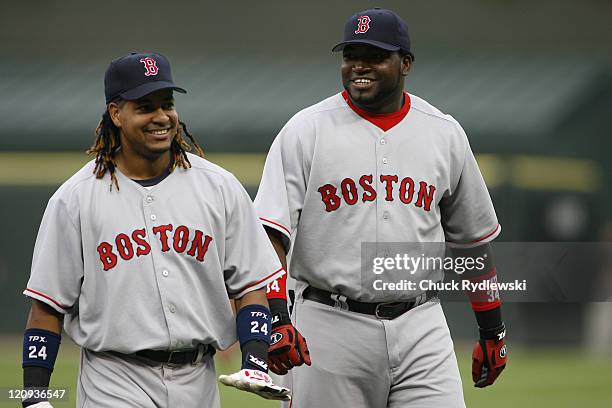
[[[404,78],[410,57],[367,44],[350,44],[342,50],[342,85],[351,100],[372,113],[401,108]]]

